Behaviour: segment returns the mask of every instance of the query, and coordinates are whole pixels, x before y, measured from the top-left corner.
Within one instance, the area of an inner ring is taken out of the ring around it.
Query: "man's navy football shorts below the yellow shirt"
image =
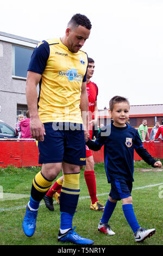
[[[66,162],[86,164],[85,139],[82,124],[45,123],[46,135],[38,142],[39,163]]]

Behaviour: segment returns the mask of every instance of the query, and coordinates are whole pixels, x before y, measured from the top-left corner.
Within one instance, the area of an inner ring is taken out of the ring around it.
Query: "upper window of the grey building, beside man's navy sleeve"
[[[33,49],[12,45],[12,76],[27,77],[27,69]]]

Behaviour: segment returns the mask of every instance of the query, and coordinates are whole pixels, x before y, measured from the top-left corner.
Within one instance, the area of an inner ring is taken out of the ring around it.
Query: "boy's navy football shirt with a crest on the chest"
[[[106,126],[105,131],[99,133],[95,142],[89,141],[86,144],[95,151],[104,145],[104,162],[108,182],[120,178],[134,181],[134,149],[143,148],[139,133],[128,124],[126,127],[110,125],[109,136],[104,136],[107,133]]]

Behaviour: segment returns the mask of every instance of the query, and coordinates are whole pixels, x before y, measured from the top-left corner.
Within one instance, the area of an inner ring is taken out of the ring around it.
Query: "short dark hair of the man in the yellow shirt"
[[[83,26],[89,30],[92,28],[90,20],[83,14],[74,14],[71,20],[68,22],[68,26],[71,23],[73,23],[75,26]]]

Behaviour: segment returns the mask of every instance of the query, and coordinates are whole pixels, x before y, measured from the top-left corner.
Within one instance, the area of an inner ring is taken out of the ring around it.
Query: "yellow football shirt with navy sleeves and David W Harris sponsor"
[[[72,53],[60,39],[42,41],[37,45],[28,71],[42,75],[38,97],[42,123],[83,123],[79,106],[87,64],[85,52]]]

